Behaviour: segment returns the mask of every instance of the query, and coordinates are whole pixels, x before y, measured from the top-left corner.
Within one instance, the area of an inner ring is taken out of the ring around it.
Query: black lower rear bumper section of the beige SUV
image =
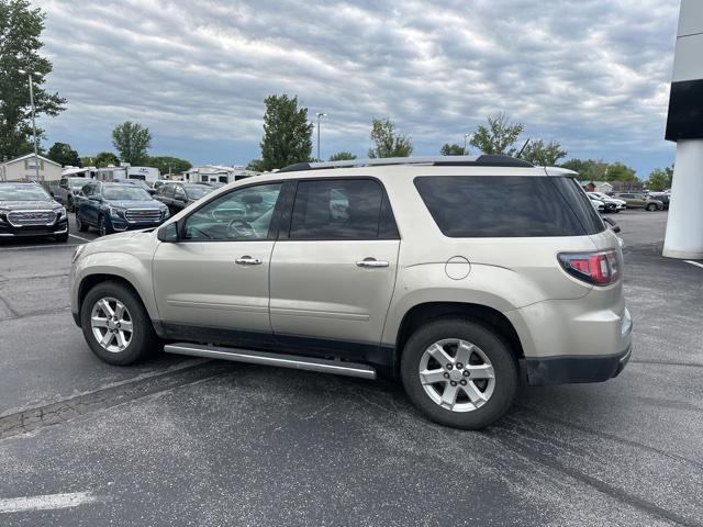
[[[617,377],[625,369],[632,355],[632,346],[615,355],[561,356],[522,361],[531,386],[603,382]]]

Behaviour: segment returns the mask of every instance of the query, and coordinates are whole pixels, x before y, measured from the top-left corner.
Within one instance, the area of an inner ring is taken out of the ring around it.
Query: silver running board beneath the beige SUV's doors
[[[233,360],[235,362],[248,362],[252,365],[278,366],[295,370],[317,371],[337,375],[358,377],[361,379],[376,379],[376,370],[370,366],[344,362],[341,360],[301,357],[299,355],[269,354],[266,351],[189,343],[167,344],[164,346],[164,351],[167,354],[207,357],[209,359]]]

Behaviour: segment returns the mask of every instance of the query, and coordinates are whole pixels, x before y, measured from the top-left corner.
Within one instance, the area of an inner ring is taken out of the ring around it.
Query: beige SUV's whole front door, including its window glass
[[[182,221],[179,242],[158,246],[153,273],[163,323],[272,338],[268,273],[281,187],[219,195]]]

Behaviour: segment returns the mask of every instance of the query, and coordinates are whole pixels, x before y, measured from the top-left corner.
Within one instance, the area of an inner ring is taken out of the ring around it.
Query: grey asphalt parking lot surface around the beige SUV
[[[702,525],[703,268],[660,256],[666,213],[612,217],[628,367],[523,388],[481,433],[425,421],[386,381],[166,356],[110,367],[70,316],[82,240],[3,244],[0,525]],[[75,506],[18,505],[47,495]]]

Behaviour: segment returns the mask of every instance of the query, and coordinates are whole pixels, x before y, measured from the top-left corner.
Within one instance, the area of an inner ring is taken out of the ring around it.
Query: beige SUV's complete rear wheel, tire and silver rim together
[[[478,429],[500,418],[517,390],[517,365],[503,340],[472,321],[421,326],[401,358],[403,386],[432,421]]]

